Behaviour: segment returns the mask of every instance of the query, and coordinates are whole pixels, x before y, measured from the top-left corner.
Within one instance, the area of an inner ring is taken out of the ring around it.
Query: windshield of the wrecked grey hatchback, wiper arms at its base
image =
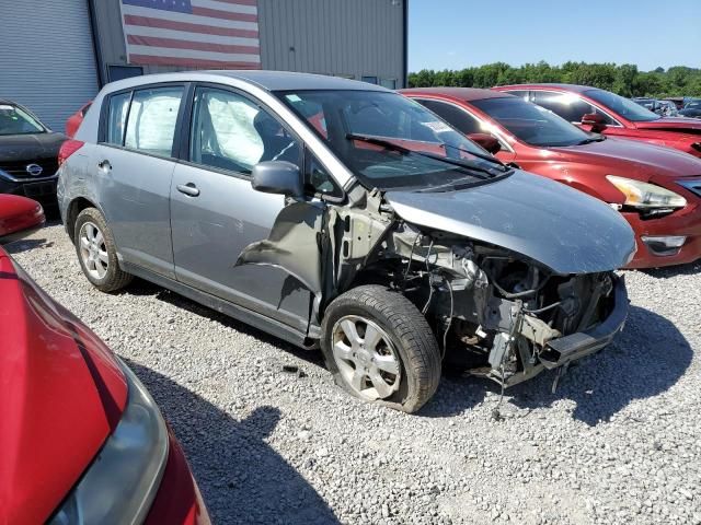
[[[484,184],[485,177],[508,171],[421,104],[397,93],[320,90],[277,95],[370,188]]]

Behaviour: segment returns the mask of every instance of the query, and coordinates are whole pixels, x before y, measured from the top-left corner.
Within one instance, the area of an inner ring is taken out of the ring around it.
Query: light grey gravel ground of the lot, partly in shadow
[[[701,524],[701,265],[627,272],[605,352],[507,392],[444,377],[416,416],[349,398],[320,355],[142,281],[83,278],[61,225],[9,246],[150,388],[215,523]],[[284,365],[298,368],[290,373]]]

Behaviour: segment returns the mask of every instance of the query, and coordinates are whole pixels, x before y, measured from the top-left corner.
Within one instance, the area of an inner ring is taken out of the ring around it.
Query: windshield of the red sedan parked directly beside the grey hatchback
[[[544,107],[522,98],[484,98],[472,101],[478,109],[486,113],[519,140],[530,145],[556,147],[588,142],[591,135],[570,124]]]

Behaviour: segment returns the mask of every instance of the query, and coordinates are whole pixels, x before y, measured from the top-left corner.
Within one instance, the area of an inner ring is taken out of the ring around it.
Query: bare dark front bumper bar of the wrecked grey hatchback
[[[545,369],[555,369],[601,350],[623,329],[628,317],[625,280],[617,277],[613,285],[613,310],[609,316],[585,331],[552,339],[545,343],[539,360]]]

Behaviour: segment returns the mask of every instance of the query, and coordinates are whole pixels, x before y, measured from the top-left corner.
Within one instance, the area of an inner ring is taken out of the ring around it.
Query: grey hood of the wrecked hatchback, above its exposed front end
[[[517,252],[558,273],[625,266],[633,231],[610,207],[576,189],[516,171],[496,183],[458,191],[388,191],[405,221]]]

